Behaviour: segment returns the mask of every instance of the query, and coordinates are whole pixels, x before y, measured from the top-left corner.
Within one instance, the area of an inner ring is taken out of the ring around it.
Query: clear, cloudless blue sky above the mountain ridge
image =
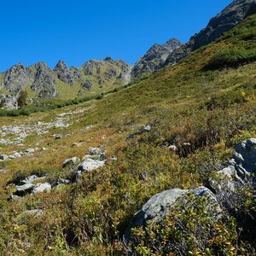
[[[112,56],[134,63],[154,43],[189,40],[231,0],[6,0],[0,70],[62,59],[79,67]]]

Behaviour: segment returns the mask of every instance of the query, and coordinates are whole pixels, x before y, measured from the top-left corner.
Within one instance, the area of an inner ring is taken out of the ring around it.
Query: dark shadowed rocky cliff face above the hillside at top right
[[[220,14],[213,17],[206,28],[190,38],[187,44],[184,44],[179,49],[174,49],[166,59],[163,67],[176,64],[195,49],[199,49],[201,46],[212,43],[222,36],[224,32],[230,31],[230,29],[239,24],[241,20],[247,18],[248,15],[253,15],[255,13],[256,0],[233,1]]]

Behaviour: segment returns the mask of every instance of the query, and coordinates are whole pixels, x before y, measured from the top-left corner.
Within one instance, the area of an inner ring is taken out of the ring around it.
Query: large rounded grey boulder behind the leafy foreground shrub
[[[177,200],[182,201],[184,195],[192,193],[196,196],[207,196],[212,206],[216,207],[216,211],[221,212],[218,201],[212,191],[206,187],[197,189],[170,189],[151,197],[143,208],[137,212],[131,219],[129,227],[125,231],[125,241],[130,240],[131,229],[135,227],[145,226],[148,222],[159,223],[168,213],[175,207]]]

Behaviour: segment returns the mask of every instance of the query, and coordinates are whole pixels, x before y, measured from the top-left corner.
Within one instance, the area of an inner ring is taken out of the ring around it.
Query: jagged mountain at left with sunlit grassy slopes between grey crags
[[[131,67],[110,57],[88,61],[82,67],[67,67],[59,61],[54,69],[44,62],[31,67],[17,64],[0,73],[0,92],[18,96],[26,90],[31,99],[68,99],[90,96],[118,88],[130,81]]]

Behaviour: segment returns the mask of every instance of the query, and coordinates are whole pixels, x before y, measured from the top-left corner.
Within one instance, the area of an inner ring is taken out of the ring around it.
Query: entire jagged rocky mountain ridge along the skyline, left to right
[[[21,90],[26,90],[30,102],[55,98],[68,100],[106,93],[177,64],[255,13],[256,0],[234,0],[213,17],[206,28],[191,37],[188,43],[182,44],[172,38],[166,44],[154,44],[133,67],[125,61],[114,61],[110,57],[102,61],[87,61],[79,68],[67,67],[64,61],[59,61],[54,69],[44,62],[31,67],[17,64],[0,73],[0,101],[5,102],[3,105],[6,108],[17,108],[15,97],[20,95]]]

